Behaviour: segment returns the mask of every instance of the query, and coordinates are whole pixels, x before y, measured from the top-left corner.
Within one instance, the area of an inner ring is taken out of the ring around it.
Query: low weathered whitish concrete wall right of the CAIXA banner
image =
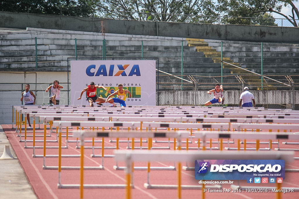
[[[250,91],[255,98],[256,104],[291,104],[291,92],[288,90],[253,90]],[[182,104],[194,105],[194,91],[159,91],[159,105]],[[228,90],[224,92],[224,104],[239,104],[241,91]],[[205,104],[213,98],[207,91],[197,92],[197,105]],[[299,91],[295,91],[295,104],[299,104]],[[158,95],[157,95],[158,101]],[[285,107],[284,107],[285,108]]]

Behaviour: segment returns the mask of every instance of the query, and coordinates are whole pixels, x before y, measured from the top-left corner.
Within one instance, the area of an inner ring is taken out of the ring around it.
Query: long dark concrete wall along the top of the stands
[[[101,31],[101,21],[106,33],[201,38],[229,41],[291,42],[299,43],[296,27],[269,27],[248,25],[191,24],[173,22],[129,21],[117,19],[71,16],[37,15],[0,12],[0,27],[47,28],[86,32]]]

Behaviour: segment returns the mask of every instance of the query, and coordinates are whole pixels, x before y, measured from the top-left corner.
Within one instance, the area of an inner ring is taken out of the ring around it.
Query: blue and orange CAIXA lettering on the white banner
[[[96,65],[95,64],[91,64],[86,68],[86,75],[88,76],[141,76],[140,75],[140,69],[139,69],[139,65],[138,64],[134,64],[132,69],[130,71],[125,71],[127,67],[129,67],[130,64],[117,64],[115,67],[114,64],[111,64],[107,73],[107,69],[106,69],[106,65],[105,64],[101,64],[100,67],[96,70]],[[118,69],[118,72],[115,73],[115,75],[113,75],[114,73],[114,68],[116,68],[116,71]],[[129,75],[126,74],[126,72],[129,72]]]

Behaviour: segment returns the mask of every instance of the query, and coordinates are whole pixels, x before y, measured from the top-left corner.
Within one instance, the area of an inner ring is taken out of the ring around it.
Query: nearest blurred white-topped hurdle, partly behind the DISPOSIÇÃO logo
[[[116,161],[124,161],[127,166],[131,166],[132,162],[135,161],[194,161],[200,157],[200,159],[283,159],[286,162],[291,162],[293,160],[293,153],[289,152],[215,152],[215,151],[201,151],[201,152],[186,152],[186,151],[125,151],[118,150],[114,151]],[[132,168],[126,169],[125,171],[127,177],[127,187],[126,195],[130,198],[130,178],[132,175]],[[277,185],[279,189],[279,185]],[[181,185],[181,171],[178,170],[178,184],[177,185],[153,185],[144,183],[144,187],[147,189],[177,189],[178,198],[181,198],[181,189],[187,189],[186,186]],[[205,186],[207,187],[207,186]],[[203,186],[197,185],[196,189],[202,189]],[[273,187],[274,189],[276,187]],[[211,188],[210,188],[211,189]],[[212,189],[219,189],[219,187],[212,187]],[[283,188],[286,189],[286,188]],[[202,192],[202,198],[205,197],[204,192]]]

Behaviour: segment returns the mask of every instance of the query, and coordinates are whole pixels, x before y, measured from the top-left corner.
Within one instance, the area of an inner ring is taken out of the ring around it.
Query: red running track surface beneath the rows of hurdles
[[[16,155],[32,185],[34,192],[38,198],[80,198],[79,189],[58,189],[58,170],[45,170],[42,169],[43,158],[33,158],[33,149],[24,149],[24,142],[19,142],[19,137],[11,125],[2,125],[5,134],[8,136],[10,144],[16,152]],[[28,135],[32,135],[32,129]],[[36,129],[36,135],[42,135],[43,129]],[[24,127],[22,129],[24,135]],[[49,130],[47,130],[47,135]],[[125,140],[126,138],[120,138]],[[24,140],[24,137],[22,137]],[[32,137],[27,137],[27,140],[32,140]],[[36,140],[43,140],[43,137],[36,137]],[[52,134],[47,137],[47,140],[56,140],[56,135]],[[74,138],[69,138],[74,140]],[[95,140],[99,140],[95,138]],[[113,139],[115,140],[115,139]],[[213,140],[216,141],[216,140]],[[249,141],[249,140],[248,140]],[[262,141],[262,140],[261,140]],[[274,140],[273,140],[274,141]],[[290,142],[299,142],[298,140],[289,140]],[[194,143],[194,141],[193,141]],[[280,141],[281,143],[281,141]],[[154,146],[167,146],[165,143],[153,143]],[[33,146],[32,142],[27,142],[27,146]],[[42,142],[36,142],[36,146],[43,146]],[[47,146],[58,146],[58,143],[47,143]],[[65,137],[62,138],[62,146],[65,146]],[[85,143],[85,146],[91,146],[91,143]],[[95,146],[101,146],[101,143],[95,143]],[[105,139],[105,146],[116,146],[116,143],[110,143],[109,139]],[[126,149],[127,143],[120,143],[121,149]],[[139,146],[138,141],[135,147]],[[147,143],[143,143],[147,146]],[[185,146],[185,144],[183,144]],[[213,146],[217,146],[213,144]],[[226,144],[224,144],[226,146]],[[261,144],[260,147],[267,147],[268,145]],[[283,145],[281,148],[296,148],[299,145]],[[170,145],[173,149],[173,144]],[[189,144],[189,147],[197,147],[197,144]],[[237,144],[230,144],[230,147],[237,147]],[[242,147],[242,145],[241,145]],[[255,147],[253,144],[247,144],[247,147]],[[277,147],[277,145],[272,146]],[[155,149],[154,149],[155,150]],[[165,149],[167,150],[167,149]],[[91,149],[84,150],[84,166],[99,166],[101,158],[91,158]],[[229,151],[228,151],[229,152]],[[95,149],[95,154],[100,154],[100,149]],[[43,149],[36,149],[36,155],[42,155]],[[46,149],[46,154],[58,154],[58,149]],[[80,154],[80,149],[76,149],[76,143],[68,143],[68,149],[62,149],[62,154]],[[105,154],[112,154],[112,149],[105,149]],[[295,152],[295,157],[299,157],[299,152]],[[299,160],[286,164],[286,168],[299,169]],[[113,158],[104,159],[104,170],[84,170],[84,184],[125,184],[125,173],[122,170],[114,170],[112,167],[115,165]],[[155,162],[151,166],[170,166],[173,163]],[[182,163],[184,166],[185,164]],[[58,166],[58,158],[46,158],[46,166]],[[62,166],[80,166],[80,158],[62,158]],[[118,166],[124,166],[124,163],[118,163]],[[135,163],[134,166],[147,166],[147,163]],[[188,163],[188,166],[194,166],[193,163]],[[61,172],[62,184],[79,184],[79,170],[62,170]],[[286,178],[283,181],[282,187],[299,187],[299,172],[286,172]],[[132,189],[132,198],[177,198],[176,189],[145,189],[143,184],[147,182],[146,170],[134,171],[134,186]],[[151,184],[177,184],[177,171],[151,171],[150,172]],[[240,181],[243,186],[275,186],[275,184],[249,184],[246,181]],[[194,171],[182,171],[182,184],[183,185],[198,185],[198,181],[194,178]],[[237,184],[237,181],[234,181]],[[230,188],[230,185],[223,185],[223,188]],[[125,189],[84,189],[84,198],[125,198]],[[201,190],[182,190],[182,198],[201,198]],[[281,193],[282,198],[298,198],[298,193]],[[275,198],[276,193],[206,193],[205,198]]]

